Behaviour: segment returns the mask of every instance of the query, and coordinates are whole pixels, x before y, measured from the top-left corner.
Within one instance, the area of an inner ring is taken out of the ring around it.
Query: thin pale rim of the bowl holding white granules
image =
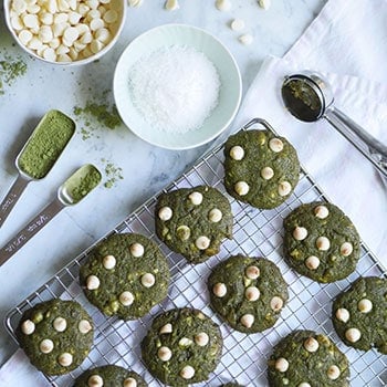
[[[234,71],[236,71],[236,75],[237,75],[237,83],[238,83],[238,98],[237,98],[237,103],[234,104],[233,106],[233,109],[232,109],[232,113],[230,114],[230,117],[227,119],[226,123],[222,124],[222,126],[216,130],[215,133],[212,133],[210,136],[206,137],[205,139],[202,140],[198,140],[198,142],[195,142],[195,143],[191,143],[191,144],[187,144],[187,145],[165,145],[165,144],[159,144],[158,142],[156,140],[151,140],[151,139],[148,139],[148,138],[144,138],[138,132],[136,132],[136,129],[133,129],[132,127],[129,127],[124,118],[122,117],[122,114],[119,112],[119,104],[117,103],[117,96],[116,96],[116,93],[115,93],[115,90],[116,90],[116,84],[117,84],[117,79],[118,79],[118,67],[119,67],[119,64],[122,62],[122,59],[124,56],[124,54],[126,54],[127,51],[129,51],[133,45],[135,45],[135,43],[144,38],[147,38],[147,35],[149,34],[153,34],[155,32],[158,32],[159,30],[168,30],[170,28],[181,28],[181,29],[187,29],[187,30],[194,30],[196,31],[197,33],[201,33],[201,34],[205,34],[207,36],[209,36],[210,39],[212,39],[217,44],[219,44],[223,50],[224,52],[227,53],[227,55],[230,57],[231,62],[232,62],[232,65],[234,67]],[[117,111],[123,119],[123,123],[125,124],[125,126],[133,133],[135,134],[138,138],[140,138],[142,140],[150,144],[150,145],[154,145],[154,146],[157,146],[157,147],[160,147],[160,148],[164,148],[164,149],[170,149],[170,150],[187,150],[187,149],[192,149],[192,148],[196,148],[196,147],[199,147],[201,145],[205,145],[205,144],[208,144],[209,142],[211,142],[212,139],[217,138],[223,130],[226,130],[229,125],[231,124],[231,122],[236,118],[236,115],[240,108],[240,105],[241,105],[241,100],[242,100],[242,76],[241,76],[241,72],[240,72],[240,69],[239,69],[239,65],[238,65],[238,62],[237,60],[234,59],[234,56],[232,55],[231,51],[226,46],[224,43],[222,43],[220,41],[220,39],[218,39],[217,36],[215,36],[212,33],[208,32],[207,30],[205,30],[203,28],[200,28],[200,27],[196,27],[196,25],[191,25],[191,24],[186,24],[186,23],[165,23],[165,24],[160,24],[160,25],[157,25],[157,27],[154,27],[143,33],[140,33],[138,36],[136,36],[135,39],[133,39],[127,45],[126,48],[124,49],[124,51],[122,52],[122,54],[119,55],[119,59],[116,63],[116,66],[115,66],[115,70],[114,70],[114,76],[113,76],[113,95],[114,95],[114,98],[115,98],[115,104],[117,106]]]

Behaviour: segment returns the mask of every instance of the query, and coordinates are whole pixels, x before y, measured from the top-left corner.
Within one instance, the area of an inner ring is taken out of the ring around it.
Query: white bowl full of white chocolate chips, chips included
[[[32,56],[85,64],[117,41],[126,0],[6,0],[4,14],[15,41]]]

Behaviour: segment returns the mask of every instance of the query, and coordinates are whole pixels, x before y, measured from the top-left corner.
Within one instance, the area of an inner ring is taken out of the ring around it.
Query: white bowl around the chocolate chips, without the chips
[[[98,51],[97,53],[95,53],[91,56],[87,56],[85,59],[75,60],[72,62],[49,61],[49,60],[38,55],[33,50],[29,49],[20,41],[20,39],[17,34],[17,31],[12,28],[12,24],[11,24],[11,14],[10,14],[11,1],[12,0],[4,0],[4,17],[6,17],[7,27],[8,27],[9,31],[11,32],[13,39],[17,41],[17,43],[31,56],[33,56],[40,61],[43,61],[45,63],[57,64],[57,65],[62,65],[62,66],[87,64],[87,63],[91,63],[91,62],[100,59],[101,56],[105,55],[113,48],[113,45],[117,42],[118,36],[119,36],[124,25],[125,25],[125,20],[126,20],[126,9],[127,9],[126,2],[127,2],[127,0],[112,0],[112,3],[115,4],[115,9],[118,11],[119,19],[114,23],[113,31],[112,31],[113,32],[112,40],[101,51]]]

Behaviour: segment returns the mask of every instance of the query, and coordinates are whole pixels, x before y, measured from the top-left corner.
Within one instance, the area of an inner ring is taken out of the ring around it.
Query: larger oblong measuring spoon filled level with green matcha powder
[[[18,178],[0,205],[0,227],[30,181],[44,178],[75,133],[75,123],[60,111],[49,111],[40,121],[15,160]]]

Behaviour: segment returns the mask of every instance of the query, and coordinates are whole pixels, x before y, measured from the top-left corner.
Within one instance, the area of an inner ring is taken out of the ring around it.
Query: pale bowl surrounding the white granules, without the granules
[[[130,67],[144,55],[166,46],[188,46],[203,53],[220,77],[219,103],[203,125],[186,133],[167,133],[149,125],[130,101]],[[236,116],[242,94],[241,75],[229,50],[205,30],[185,24],[165,24],[151,29],[125,49],[117,63],[113,92],[118,113],[126,126],[138,137],[167,149],[189,149],[219,136]]]

